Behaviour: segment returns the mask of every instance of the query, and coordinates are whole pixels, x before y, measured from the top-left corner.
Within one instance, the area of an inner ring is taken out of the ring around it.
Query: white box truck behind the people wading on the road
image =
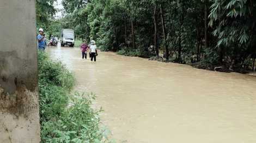
[[[72,29],[62,29],[60,35],[60,44],[62,47],[69,45],[69,47],[74,47],[75,45],[75,32]]]

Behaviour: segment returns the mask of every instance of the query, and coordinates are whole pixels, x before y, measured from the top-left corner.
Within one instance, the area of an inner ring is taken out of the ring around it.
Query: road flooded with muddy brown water
[[[95,93],[117,142],[254,143],[256,78],[80,48],[47,48],[76,73],[78,92]]]

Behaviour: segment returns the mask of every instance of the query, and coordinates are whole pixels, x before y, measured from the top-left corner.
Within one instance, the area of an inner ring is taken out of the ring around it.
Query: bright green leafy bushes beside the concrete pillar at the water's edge
[[[70,94],[74,73],[38,51],[40,128],[42,142],[107,142],[106,127],[100,127],[101,109],[91,107],[94,94]]]

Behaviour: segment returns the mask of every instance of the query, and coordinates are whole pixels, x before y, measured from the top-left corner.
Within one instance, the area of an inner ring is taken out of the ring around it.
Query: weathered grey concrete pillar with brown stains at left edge
[[[0,0],[0,142],[40,142],[34,0]]]

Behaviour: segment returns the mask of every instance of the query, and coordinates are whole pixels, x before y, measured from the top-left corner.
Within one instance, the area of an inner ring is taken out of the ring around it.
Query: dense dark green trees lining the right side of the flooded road
[[[62,20],[102,50],[138,56],[163,51],[179,63],[252,68],[255,1],[63,0],[63,5]]]

